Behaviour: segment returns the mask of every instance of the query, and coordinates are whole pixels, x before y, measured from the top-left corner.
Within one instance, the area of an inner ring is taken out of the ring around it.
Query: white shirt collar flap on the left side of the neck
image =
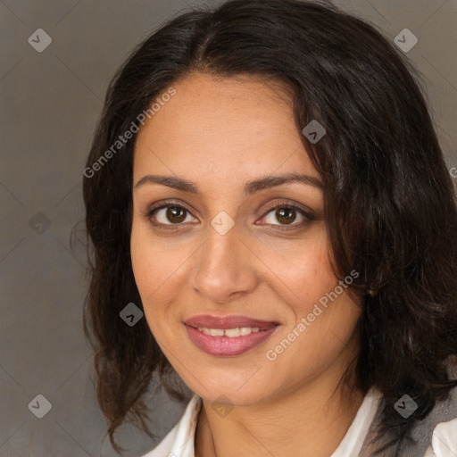
[[[194,455],[194,440],[191,439],[195,433],[198,413],[201,408],[201,399],[194,395],[179,422],[171,428],[170,432],[162,441],[143,457],[181,457]]]

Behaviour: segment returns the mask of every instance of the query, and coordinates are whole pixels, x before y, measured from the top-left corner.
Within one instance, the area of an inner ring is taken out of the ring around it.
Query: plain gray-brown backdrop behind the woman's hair
[[[392,41],[405,28],[419,38],[407,54],[422,74],[449,168],[456,166],[457,0],[335,4],[377,25]],[[109,79],[133,46],[191,5],[0,1],[2,456],[117,455],[104,437],[82,332],[85,259],[78,246],[71,253],[69,238],[84,213],[82,170]],[[41,53],[28,42],[37,29],[52,38]],[[28,406],[37,395],[52,404],[42,419]],[[157,414],[150,425],[164,436],[183,407],[165,395],[151,404]],[[129,448],[126,456],[154,447],[127,425],[118,440]]]

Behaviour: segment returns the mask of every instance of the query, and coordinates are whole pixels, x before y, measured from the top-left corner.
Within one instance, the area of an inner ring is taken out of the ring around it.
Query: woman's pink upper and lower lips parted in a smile
[[[265,341],[278,327],[277,322],[268,320],[257,320],[245,316],[228,316],[226,318],[210,315],[195,316],[185,322],[187,335],[193,343],[205,353],[218,355],[220,357],[238,355],[249,351],[256,345]],[[253,332],[244,337],[212,337],[205,335],[198,330],[204,328],[260,328],[260,331]]]

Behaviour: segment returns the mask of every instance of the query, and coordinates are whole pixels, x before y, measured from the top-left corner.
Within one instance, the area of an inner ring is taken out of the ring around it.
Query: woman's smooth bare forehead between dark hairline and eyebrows
[[[278,81],[192,74],[140,129],[134,178],[158,171],[234,179],[312,167],[295,125],[293,96]]]

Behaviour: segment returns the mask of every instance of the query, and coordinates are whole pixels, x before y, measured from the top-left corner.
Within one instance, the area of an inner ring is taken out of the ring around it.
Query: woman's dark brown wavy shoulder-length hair
[[[360,272],[351,286],[362,306],[351,385],[382,393],[377,436],[392,433],[388,446],[400,455],[414,424],[457,386],[448,371],[457,353],[453,183],[419,71],[367,22],[297,0],[232,0],[182,13],[137,46],[107,90],[83,178],[84,330],[114,449],[113,434],[130,417],[154,437],[144,400],[154,373],[184,397],[146,320],[129,327],[119,315],[127,303],[142,307],[129,251],[136,135],[92,167],[191,71],[278,80],[291,90],[297,133],[324,184],[334,270],[338,278]],[[327,130],[315,144],[302,134],[311,120]],[[394,409],[405,393],[419,405],[408,419]]]

